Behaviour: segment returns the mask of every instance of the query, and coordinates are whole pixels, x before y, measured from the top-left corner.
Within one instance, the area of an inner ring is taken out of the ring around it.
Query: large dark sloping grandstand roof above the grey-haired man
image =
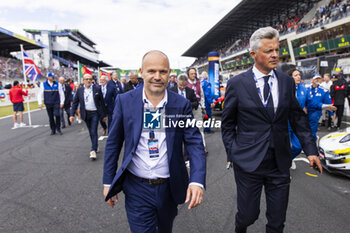
[[[273,25],[301,3],[318,0],[242,0],[182,56],[203,57],[229,42],[242,39],[258,28]]]

